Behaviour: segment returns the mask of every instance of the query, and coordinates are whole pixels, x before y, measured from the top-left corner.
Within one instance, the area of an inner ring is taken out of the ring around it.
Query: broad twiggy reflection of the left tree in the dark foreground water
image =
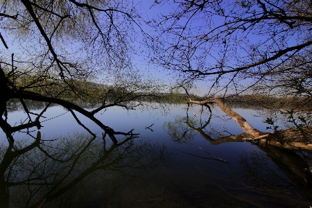
[[[121,144],[86,135],[1,146],[0,207],[122,206],[123,191],[168,159],[163,146],[128,137]],[[100,206],[101,204],[101,206]]]

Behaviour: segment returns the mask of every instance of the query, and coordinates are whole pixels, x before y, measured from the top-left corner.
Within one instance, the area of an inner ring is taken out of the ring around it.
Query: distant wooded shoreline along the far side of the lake
[[[30,76],[29,80],[15,80],[17,86],[31,82],[35,78]],[[34,87],[28,89],[31,92],[42,94],[44,96],[51,96],[83,105],[82,107],[89,108],[99,105],[103,102],[106,104],[116,102],[130,102],[130,101],[144,101],[144,102],[159,102],[159,103],[187,103],[189,96],[185,93],[179,92],[178,89],[171,90],[171,92],[139,92],[130,89],[131,86],[119,85],[104,85],[101,83],[93,83],[86,80],[69,80],[67,85],[58,82],[58,80],[45,79],[42,80],[43,87]],[[205,100],[212,97],[200,97],[191,95],[193,100]],[[230,95],[226,97],[214,96],[214,98],[222,98],[225,103],[245,103],[247,105],[257,105],[263,107],[311,107],[311,100],[309,98],[290,98],[290,97],[275,97],[261,94],[245,94],[245,95]],[[21,108],[19,101],[11,101],[12,108]],[[10,104],[9,104],[10,105]],[[40,107],[38,103],[28,103],[34,108]],[[38,105],[38,106],[37,106]],[[13,110],[13,109],[12,109]]]

